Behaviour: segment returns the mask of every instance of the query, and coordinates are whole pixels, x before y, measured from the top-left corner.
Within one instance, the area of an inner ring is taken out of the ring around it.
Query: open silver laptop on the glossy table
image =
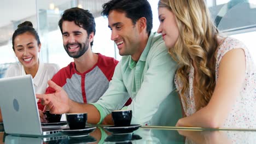
[[[0,79],[0,95],[5,133],[29,136],[59,133],[60,127],[41,127],[31,75]]]

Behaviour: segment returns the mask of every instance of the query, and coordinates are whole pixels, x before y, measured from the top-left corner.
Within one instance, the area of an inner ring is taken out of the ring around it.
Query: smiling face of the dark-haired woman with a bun
[[[38,52],[41,45],[29,32],[17,35],[14,39],[14,52],[25,69],[38,68]]]

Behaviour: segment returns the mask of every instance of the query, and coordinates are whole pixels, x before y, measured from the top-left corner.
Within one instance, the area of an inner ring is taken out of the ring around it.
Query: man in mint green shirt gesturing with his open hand
[[[52,81],[56,93],[37,95],[51,113],[88,112],[88,123],[112,123],[113,110],[132,110],[132,124],[174,126],[182,117],[173,82],[176,63],[161,35],[151,32],[152,10],[147,0],[112,0],[103,4],[111,39],[123,56],[109,88],[93,104],[80,104]],[[129,106],[123,107],[132,98]]]

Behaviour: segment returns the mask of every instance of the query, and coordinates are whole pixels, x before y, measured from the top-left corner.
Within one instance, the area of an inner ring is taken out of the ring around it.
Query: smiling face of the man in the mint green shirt
[[[111,40],[117,44],[119,55],[135,55],[139,50],[138,22],[133,25],[132,20],[125,13],[112,10],[108,15],[108,26],[112,30]]]

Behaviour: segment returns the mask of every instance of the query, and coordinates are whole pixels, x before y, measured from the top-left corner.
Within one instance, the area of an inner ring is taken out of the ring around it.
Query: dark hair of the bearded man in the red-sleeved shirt
[[[95,20],[94,16],[90,13],[89,10],[84,10],[81,8],[70,8],[64,11],[59,21],[59,27],[62,33],[62,23],[63,21],[74,21],[75,25],[83,27],[87,32],[88,36],[93,32],[95,35]],[[94,41],[91,41],[91,46]]]

